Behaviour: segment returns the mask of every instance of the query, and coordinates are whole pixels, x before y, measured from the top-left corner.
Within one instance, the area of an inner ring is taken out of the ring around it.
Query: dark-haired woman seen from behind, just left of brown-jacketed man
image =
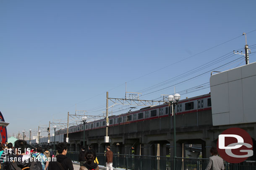
[[[99,170],[99,166],[94,162],[94,152],[93,150],[88,150],[85,153],[86,162],[80,166],[79,170]]]

